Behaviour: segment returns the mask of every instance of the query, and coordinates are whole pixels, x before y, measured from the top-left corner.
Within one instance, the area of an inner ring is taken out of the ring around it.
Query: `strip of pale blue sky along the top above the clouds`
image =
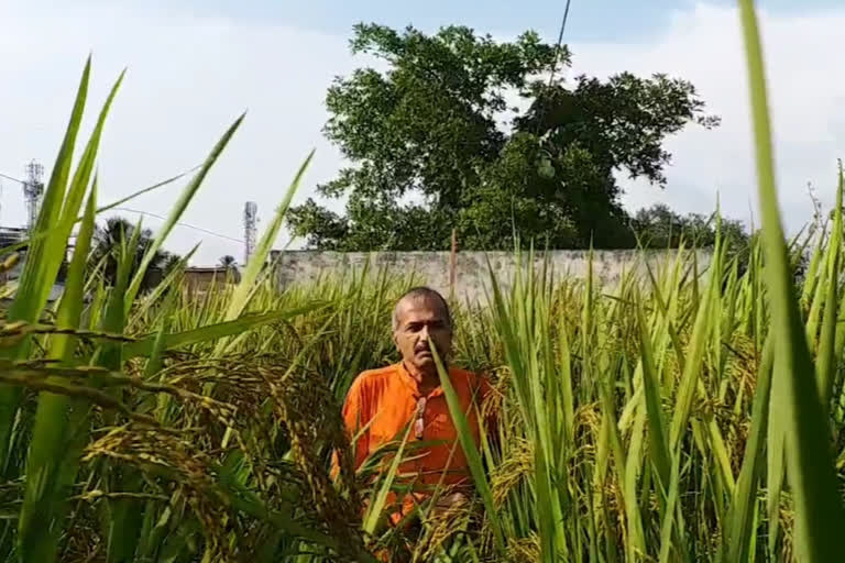
[[[479,32],[513,33],[533,29],[557,38],[566,0],[204,0],[165,1],[194,13],[234,19],[275,21],[325,33],[348,34],[360,21],[393,26],[413,23],[424,30],[460,23]],[[567,37],[570,41],[632,41],[663,30],[673,14],[695,5],[694,0],[572,0]],[[734,5],[715,0],[713,5]],[[838,0],[758,1],[760,9],[782,14],[809,13],[841,5]]]

